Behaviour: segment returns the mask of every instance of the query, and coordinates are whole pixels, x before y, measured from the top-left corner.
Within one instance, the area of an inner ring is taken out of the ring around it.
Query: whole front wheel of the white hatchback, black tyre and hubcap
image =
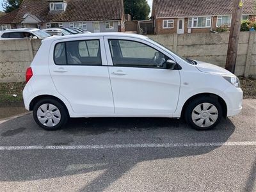
[[[210,130],[219,124],[222,108],[217,99],[200,97],[189,102],[185,118],[193,129],[199,131]]]

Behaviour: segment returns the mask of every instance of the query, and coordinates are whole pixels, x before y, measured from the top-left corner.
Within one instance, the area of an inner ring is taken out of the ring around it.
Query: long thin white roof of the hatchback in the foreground
[[[131,34],[131,33],[121,33],[121,32],[112,32],[112,33],[79,33],[76,35],[67,35],[67,36],[54,36],[52,38],[44,39],[43,41],[54,41],[54,40],[68,40],[69,38],[79,38],[79,37],[88,37],[88,36],[123,36],[123,37],[133,37],[140,39],[147,39],[147,36]]]

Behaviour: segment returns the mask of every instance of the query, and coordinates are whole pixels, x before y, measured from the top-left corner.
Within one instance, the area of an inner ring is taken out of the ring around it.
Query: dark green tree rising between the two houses
[[[150,13],[147,0],[124,0],[124,12],[132,16],[132,20],[146,20]]]

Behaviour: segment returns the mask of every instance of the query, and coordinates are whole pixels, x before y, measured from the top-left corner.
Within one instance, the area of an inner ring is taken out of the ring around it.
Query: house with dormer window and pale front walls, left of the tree
[[[0,18],[0,30],[83,28],[90,32],[125,31],[123,0],[23,0]]]

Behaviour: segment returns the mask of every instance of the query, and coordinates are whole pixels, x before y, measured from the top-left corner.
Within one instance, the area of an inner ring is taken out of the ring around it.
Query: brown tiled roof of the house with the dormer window
[[[50,12],[49,0],[24,0],[18,10],[0,18],[0,24],[17,24],[26,13],[44,22],[70,22],[90,20],[120,20],[122,0],[67,0],[63,12]]]

